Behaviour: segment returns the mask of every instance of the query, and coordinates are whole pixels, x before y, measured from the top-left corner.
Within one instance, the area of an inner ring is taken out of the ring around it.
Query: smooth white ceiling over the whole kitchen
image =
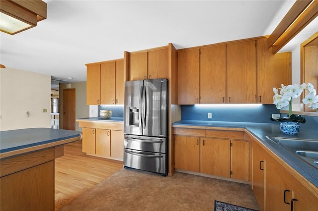
[[[32,29],[0,33],[0,63],[71,82],[86,81],[85,63],[123,52],[183,49],[269,35],[295,0],[44,0],[47,19]],[[316,18],[318,19],[318,18]],[[303,30],[291,51],[314,32]],[[72,77],[74,79],[68,79]]]

